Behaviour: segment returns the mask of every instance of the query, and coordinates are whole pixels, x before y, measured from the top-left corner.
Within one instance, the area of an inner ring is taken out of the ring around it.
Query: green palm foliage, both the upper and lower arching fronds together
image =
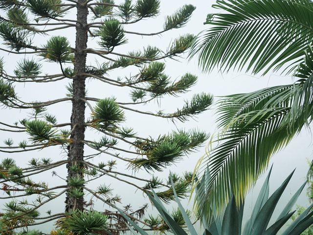
[[[213,7],[222,11],[207,16],[205,24],[211,27],[191,50],[203,71],[282,71],[297,79],[220,99],[217,146],[209,149],[199,170],[209,164],[214,182],[202,200],[215,199],[223,207],[232,193],[241,201],[270,156],[312,121],[313,2],[217,0]]]

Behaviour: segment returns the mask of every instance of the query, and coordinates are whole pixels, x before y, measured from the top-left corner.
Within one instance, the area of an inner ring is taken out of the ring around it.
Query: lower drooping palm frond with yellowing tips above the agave
[[[307,60],[305,58],[304,60]],[[303,68],[303,67],[302,67]],[[311,67],[307,65],[307,70]],[[300,74],[300,69],[297,74]],[[304,74],[304,73],[302,73]],[[234,193],[240,202],[268,166],[271,155],[308,126],[313,115],[313,73],[296,83],[229,95],[220,100],[218,145],[202,166],[208,168],[208,190],[198,202],[223,208]],[[201,203],[202,204],[202,203]],[[198,205],[201,210],[203,205]]]

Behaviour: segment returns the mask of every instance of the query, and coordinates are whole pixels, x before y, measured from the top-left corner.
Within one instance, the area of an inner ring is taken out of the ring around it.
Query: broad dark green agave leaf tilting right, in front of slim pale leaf
[[[255,221],[253,223],[251,229],[251,235],[262,235],[268,227],[269,220],[273,214],[273,211],[278,203],[279,198],[281,197],[283,191],[285,190],[287,184],[289,183],[291,174],[287,177],[287,179],[283,182],[283,184],[276,189],[276,191],[270,196],[268,201],[264,204],[261,211],[257,214]]]

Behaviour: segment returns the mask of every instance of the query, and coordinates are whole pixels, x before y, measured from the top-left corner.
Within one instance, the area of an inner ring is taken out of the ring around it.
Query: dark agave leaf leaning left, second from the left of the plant
[[[152,192],[154,195],[156,195],[153,189]],[[172,217],[166,212],[166,210],[164,210],[165,208],[162,203],[160,203],[161,201],[158,199],[157,196],[155,196],[155,198],[148,193],[148,197],[155,205],[156,210],[161,214],[162,218],[165,220],[166,224],[170,227],[175,235],[187,235],[186,232],[183,231],[183,229],[179,226],[179,224],[174,219],[172,219]]]

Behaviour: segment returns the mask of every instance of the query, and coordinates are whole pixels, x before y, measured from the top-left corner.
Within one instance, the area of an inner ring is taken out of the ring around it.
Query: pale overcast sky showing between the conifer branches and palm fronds
[[[116,0],[115,3],[118,4],[122,1]],[[170,45],[170,43],[177,38],[179,35],[183,35],[185,33],[193,33],[198,34],[202,30],[206,29],[208,26],[203,25],[205,21],[206,15],[208,13],[214,13],[215,9],[211,7],[214,3],[213,0],[161,0],[161,10],[160,15],[155,19],[149,19],[142,21],[137,24],[127,25],[125,27],[126,30],[129,31],[137,31],[144,33],[152,33],[156,31],[162,30],[162,26],[164,23],[164,18],[167,15],[172,14],[176,9],[178,9],[183,4],[193,4],[197,7],[194,11],[193,16],[189,23],[180,29],[174,29],[169,32],[163,33],[161,36],[138,36],[138,35],[126,35],[129,39],[129,43],[123,46],[116,47],[116,52],[127,53],[128,51],[139,50],[142,47],[146,47],[148,45],[159,47],[163,50]],[[0,14],[3,14],[3,12]],[[71,13],[67,15],[67,19],[75,19],[75,13]],[[75,41],[75,31],[73,29],[66,29],[62,31],[56,31],[51,33],[50,35],[62,35],[67,36],[69,41],[71,42],[71,46],[74,47]],[[44,45],[49,36],[46,37],[36,37],[34,38],[34,44],[41,46]],[[99,48],[97,45],[97,39],[89,38],[88,47]],[[3,43],[0,40],[0,43]],[[2,45],[2,48],[4,46]],[[4,57],[5,61],[5,70],[9,74],[13,74],[13,70],[15,69],[16,62],[22,58],[22,55],[13,55],[8,54],[7,52],[0,51],[0,56]],[[185,54],[185,57],[187,54]],[[34,57],[35,58],[35,57]],[[36,57],[40,59],[39,57]],[[88,63],[90,65],[95,65],[95,60],[98,63],[104,63],[105,61],[101,57],[88,56]],[[43,61],[42,61],[43,62]],[[149,105],[137,106],[137,109],[142,111],[151,111],[157,112],[158,110],[164,110],[164,112],[174,112],[177,108],[182,107],[183,100],[190,99],[193,94],[205,92],[213,94],[214,96],[221,96],[227,94],[234,93],[247,93],[251,91],[255,91],[258,89],[266,88],[269,86],[281,85],[281,84],[290,84],[294,82],[294,79],[291,76],[280,76],[279,74],[272,74],[268,76],[251,76],[249,74],[245,74],[244,72],[233,72],[230,71],[227,74],[221,74],[217,70],[212,71],[209,74],[201,73],[200,69],[197,66],[197,59],[193,58],[188,62],[185,58],[180,58],[179,62],[171,59],[167,59],[166,61],[166,73],[170,75],[173,79],[179,78],[181,75],[186,72],[190,72],[198,75],[199,81],[196,86],[194,86],[188,94],[184,94],[180,97],[164,97],[162,99],[158,99],[158,102],[151,102]],[[44,73],[60,73],[59,67],[54,63],[44,63],[43,64]],[[137,72],[136,67],[126,68],[116,70],[110,73],[112,79],[116,79],[118,76],[124,77],[129,75],[134,75]],[[67,90],[65,86],[68,84],[69,79],[64,79],[62,81],[57,81],[53,83],[19,83],[15,84],[16,91],[21,97],[21,99],[25,102],[40,100],[40,101],[48,101],[56,98],[66,97]],[[119,88],[112,87],[111,85],[101,83],[95,80],[88,80],[87,83],[88,96],[89,97],[97,97],[97,98],[105,98],[105,97],[116,97],[118,102],[131,102],[131,98],[129,96],[130,90],[128,88]],[[218,97],[215,97],[215,101]],[[94,105],[94,104],[92,104]],[[133,107],[133,106],[131,106]],[[1,109],[0,110],[0,121],[8,124],[13,124],[15,121],[19,121],[23,118],[29,117],[29,110],[16,110],[16,109]],[[48,107],[48,113],[57,116],[58,123],[64,123],[70,121],[70,113],[71,113],[71,103],[58,103],[55,105],[51,105]],[[177,121],[175,125],[165,119],[155,118],[151,116],[139,115],[133,112],[125,112],[127,121],[123,124],[124,126],[133,127],[134,130],[138,133],[138,135],[142,137],[157,137],[158,135],[167,134],[171,130],[176,129],[194,129],[198,128],[200,130],[205,130],[208,133],[216,132],[216,123],[215,123],[215,110],[214,106],[212,109],[197,116],[195,119],[190,119],[190,121],[181,123]],[[86,118],[89,118],[90,110],[86,108]],[[101,135],[95,131],[88,130],[86,139],[89,141],[99,140]],[[25,135],[20,134],[12,134],[1,132],[0,133],[0,142],[4,145],[3,141],[7,138],[12,138],[15,141],[14,145],[17,145],[19,141],[27,138]],[[121,145],[120,145],[121,146]],[[128,148],[127,145],[122,145]],[[85,147],[85,155],[94,153],[89,147]],[[190,154],[186,156],[183,161],[180,163],[168,167],[163,172],[156,172],[157,176],[162,178],[167,178],[169,170],[173,172],[182,173],[184,171],[192,171],[194,169],[195,164],[199,160],[199,158],[205,153],[205,146],[199,149],[199,152]],[[127,155],[124,155],[127,157]],[[66,153],[60,151],[59,147],[50,147],[47,149],[43,149],[41,151],[31,151],[24,153],[15,153],[15,154],[6,154],[1,153],[0,159],[11,157],[16,160],[16,162],[20,166],[25,166],[27,162],[31,158],[42,158],[49,157],[53,159],[53,161],[58,161],[62,159],[66,159]],[[100,161],[108,161],[111,160],[111,157],[101,155],[101,157],[97,157],[93,160],[93,163],[98,163]],[[277,153],[272,157],[270,164],[273,164],[272,176],[270,179],[270,191],[273,192],[274,189],[280,186],[282,181],[287,177],[287,175],[296,168],[294,176],[291,179],[291,183],[286,189],[286,193],[283,196],[282,203],[280,203],[277,207],[277,211],[281,210],[284,207],[284,203],[291,197],[293,192],[295,192],[299,186],[305,181],[306,172],[308,170],[308,161],[312,160],[312,135],[308,130],[303,130],[299,136],[294,138],[291,143],[282,151]],[[118,169],[120,171],[126,171],[126,165],[121,163],[118,165]],[[59,167],[56,169],[58,174],[65,178],[66,177],[66,169],[65,166]],[[136,176],[151,178],[151,175],[147,174],[144,171],[139,171],[136,173]],[[65,182],[57,177],[51,176],[51,171],[45,172],[45,174],[41,174],[40,176],[33,177],[34,180],[37,181],[46,181],[49,184],[49,187],[53,187],[55,185],[64,185]],[[249,210],[251,210],[251,206],[253,205],[253,199],[256,199],[257,192],[259,191],[260,184],[262,184],[264,177],[262,177],[261,182],[256,184],[256,187],[251,190],[247,197],[246,201],[246,214]],[[148,202],[147,199],[143,198],[141,192],[136,191],[135,188],[126,185],[122,182],[118,182],[112,180],[112,178],[102,177],[101,179],[92,182],[89,185],[89,188],[96,188],[99,184],[106,184],[112,186],[114,188],[114,194],[118,194],[122,198],[123,205],[132,204],[134,210],[140,207],[143,202]],[[142,185],[142,184],[141,184]],[[6,194],[3,193],[3,196]],[[2,195],[0,195],[2,196]],[[42,216],[45,216],[45,211],[51,210],[52,213],[61,212],[64,210],[64,197],[58,198],[56,201],[48,203],[43,207]],[[3,203],[5,200],[1,200]],[[107,206],[103,205],[103,203],[94,201],[94,209],[98,211],[103,211],[108,209]],[[3,203],[0,203],[0,208],[3,209]],[[188,201],[184,201],[186,207]],[[299,198],[299,205],[308,206],[308,201],[306,199],[305,192],[303,192]],[[1,206],[2,205],[2,206]],[[192,203],[188,205],[191,208]],[[121,205],[122,207],[122,205]],[[148,212],[153,212],[152,208],[149,207]],[[52,225],[52,223],[50,223]],[[50,230],[49,226],[40,226],[45,232]]]

